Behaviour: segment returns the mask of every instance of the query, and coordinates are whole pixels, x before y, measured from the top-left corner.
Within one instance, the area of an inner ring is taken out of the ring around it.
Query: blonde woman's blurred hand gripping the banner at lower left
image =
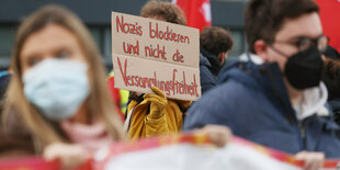
[[[71,170],[90,158],[90,154],[80,145],[56,143],[48,145],[43,154],[46,160],[59,159],[63,170]]]

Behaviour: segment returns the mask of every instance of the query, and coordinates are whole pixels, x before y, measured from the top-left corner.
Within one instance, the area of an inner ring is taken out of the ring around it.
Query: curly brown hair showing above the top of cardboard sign
[[[171,2],[148,1],[140,11],[140,16],[160,16],[167,22],[186,25],[184,12],[178,5]]]

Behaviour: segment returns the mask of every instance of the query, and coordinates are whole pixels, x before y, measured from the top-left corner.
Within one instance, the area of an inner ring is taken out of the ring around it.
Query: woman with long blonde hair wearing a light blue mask
[[[20,25],[0,156],[60,158],[66,169],[124,138],[98,47],[70,11],[46,5]]]

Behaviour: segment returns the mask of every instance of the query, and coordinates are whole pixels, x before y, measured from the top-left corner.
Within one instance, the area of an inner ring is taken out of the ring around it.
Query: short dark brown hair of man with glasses
[[[249,50],[263,39],[271,44],[286,19],[296,19],[305,13],[319,12],[314,0],[250,0],[245,11],[245,32]]]

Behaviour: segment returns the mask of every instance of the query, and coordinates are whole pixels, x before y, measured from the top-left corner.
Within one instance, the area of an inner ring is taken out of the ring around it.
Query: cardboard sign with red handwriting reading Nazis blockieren
[[[167,98],[197,100],[199,30],[112,12],[112,61],[115,88]]]

